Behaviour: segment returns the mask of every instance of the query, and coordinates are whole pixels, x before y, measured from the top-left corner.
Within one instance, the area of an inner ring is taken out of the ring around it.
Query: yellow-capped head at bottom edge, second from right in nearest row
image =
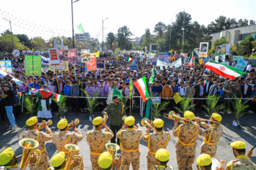
[[[212,162],[210,154],[201,154],[196,159],[197,167],[199,166],[200,170],[211,170]]]

